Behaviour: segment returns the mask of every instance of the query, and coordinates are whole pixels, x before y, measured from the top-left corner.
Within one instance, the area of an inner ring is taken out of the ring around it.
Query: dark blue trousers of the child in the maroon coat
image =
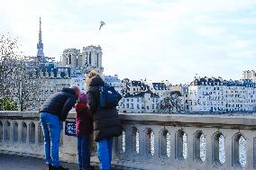
[[[78,136],[78,166],[88,169],[90,166],[90,135]]]

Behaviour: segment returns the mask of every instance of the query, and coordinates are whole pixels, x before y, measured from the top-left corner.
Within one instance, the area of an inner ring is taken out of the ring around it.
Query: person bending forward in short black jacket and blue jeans
[[[77,103],[79,92],[76,85],[63,88],[61,92],[51,94],[41,106],[40,122],[49,170],[68,170],[59,164],[59,138],[62,121],[66,120],[69,111]]]

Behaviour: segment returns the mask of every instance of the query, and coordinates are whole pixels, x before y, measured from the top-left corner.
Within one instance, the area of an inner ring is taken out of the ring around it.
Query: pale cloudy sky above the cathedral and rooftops
[[[39,17],[46,56],[101,45],[106,75],[239,79],[256,69],[256,0],[0,0],[0,32],[36,55]],[[98,31],[99,22],[105,27]]]

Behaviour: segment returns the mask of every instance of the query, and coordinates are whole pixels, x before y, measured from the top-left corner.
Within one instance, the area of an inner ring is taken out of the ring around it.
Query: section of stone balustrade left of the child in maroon
[[[74,121],[70,114],[69,120]],[[38,112],[0,112],[0,150],[5,154],[28,157],[44,157],[43,132]],[[66,162],[76,162],[76,138],[60,136],[60,158]]]

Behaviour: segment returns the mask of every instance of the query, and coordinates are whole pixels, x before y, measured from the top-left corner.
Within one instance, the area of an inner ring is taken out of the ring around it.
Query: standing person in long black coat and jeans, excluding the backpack
[[[103,79],[96,72],[91,72],[87,76],[86,84],[89,111],[94,115],[94,139],[98,145],[100,169],[110,170],[113,137],[120,136],[123,128],[115,107],[102,108],[99,105],[99,86],[105,85]]]

